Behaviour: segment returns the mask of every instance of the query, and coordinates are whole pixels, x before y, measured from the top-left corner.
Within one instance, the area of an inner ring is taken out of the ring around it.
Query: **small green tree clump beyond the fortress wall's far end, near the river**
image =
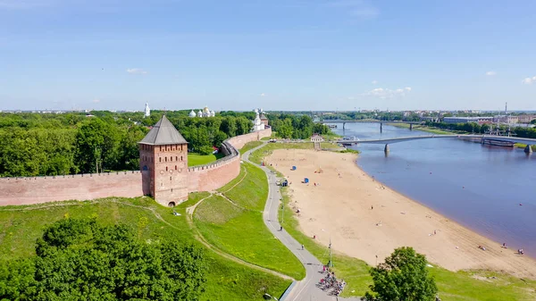
[[[268,122],[281,138],[306,139],[314,133],[320,135],[330,133],[330,128],[321,123],[314,123],[313,119],[305,114],[271,113]]]

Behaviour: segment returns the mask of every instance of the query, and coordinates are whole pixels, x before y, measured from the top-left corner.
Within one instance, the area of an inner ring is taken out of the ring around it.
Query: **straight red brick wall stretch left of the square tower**
[[[0,205],[31,205],[107,196],[143,196],[141,172],[0,179]]]

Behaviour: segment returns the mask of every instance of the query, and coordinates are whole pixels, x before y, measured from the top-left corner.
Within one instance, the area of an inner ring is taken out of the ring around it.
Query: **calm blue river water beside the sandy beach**
[[[378,123],[348,123],[343,136],[431,135]],[[357,145],[357,164],[389,188],[466,227],[536,257],[536,153],[458,139]]]

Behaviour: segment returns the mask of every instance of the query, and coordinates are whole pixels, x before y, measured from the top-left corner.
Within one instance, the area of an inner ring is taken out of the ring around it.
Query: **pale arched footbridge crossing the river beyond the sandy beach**
[[[506,136],[494,136],[494,135],[431,135],[431,136],[409,136],[400,138],[385,138],[385,139],[370,139],[370,140],[339,140],[339,143],[353,143],[353,144],[384,144],[385,152],[389,152],[389,144],[406,142],[413,140],[423,139],[444,139],[444,138],[480,138],[481,143],[495,141],[495,142],[509,142],[509,143],[521,143],[527,145],[525,147],[525,153],[532,153],[532,145],[536,145],[536,139],[533,138],[516,138]]]

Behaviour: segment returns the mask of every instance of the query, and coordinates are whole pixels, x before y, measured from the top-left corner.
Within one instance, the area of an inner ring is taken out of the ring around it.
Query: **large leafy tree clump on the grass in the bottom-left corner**
[[[0,299],[198,300],[204,291],[200,248],[140,241],[123,225],[67,218],[46,228],[36,253],[0,265]]]

